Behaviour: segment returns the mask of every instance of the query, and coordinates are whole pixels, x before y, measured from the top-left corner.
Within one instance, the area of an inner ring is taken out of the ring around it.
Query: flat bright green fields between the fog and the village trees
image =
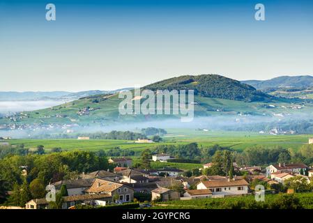
[[[153,144],[137,144],[134,141],[113,140],[113,139],[11,139],[12,145],[24,144],[26,148],[36,148],[38,145],[45,146],[49,151],[51,148],[62,148],[63,150],[82,150],[82,151],[99,151],[119,146],[122,149],[132,149],[142,151],[145,148],[153,148],[162,144],[189,144],[197,142],[199,147],[229,146],[238,151],[243,151],[250,146],[263,145],[268,147],[282,146],[283,148],[298,149],[300,146],[307,144],[311,135],[309,134],[290,134],[290,135],[268,135],[256,132],[215,132],[203,130],[181,130],[168,129],[168,134],[162,137],[163,141]]]

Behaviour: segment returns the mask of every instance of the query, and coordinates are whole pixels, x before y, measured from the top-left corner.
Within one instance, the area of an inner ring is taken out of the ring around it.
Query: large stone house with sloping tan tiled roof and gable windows
[[[84,192],[86,194],[109,194],[112,197],[111,201],[114,201],[116,194],[119,197],[118,201],[130,202],[134,200],[134,190],[131,187],[109,180],[96,179],[91,187]]]

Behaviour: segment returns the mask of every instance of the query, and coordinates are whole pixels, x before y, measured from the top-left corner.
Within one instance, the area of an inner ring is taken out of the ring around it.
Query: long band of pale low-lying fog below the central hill
[[[268,133],[272,128],[278,128],[283,131],[298,130],[297,123],[303,121],[305,117],[292,116],[281,120],[273,116],[206,116],[197,117],[190,123],[181,122],[180,118],[170,118],[167,120],[158,121],[142,121],[131,123],[115,123],[105,126],[89,125],[86,127],[68,127],[68,128],[54,128],[53,130],[45,130],[39,128],[38,130],[9,130],[0,131],[0,137],[10,136],[13,138],[45,138],[53,137],[54,134],[86,134],[92,132],[110,132],[112,130],[120,131],[135,131],[138,132],[142,128],[155,127],[155,128],[181,128],[181,129],[200,129],[200,130],[227,130],[227,131],[248,131]],[[296,125],[294,124],[296,122]],[[295,131],[296,133],[297,131]],[[288,133],[287,133],[288,134]]]

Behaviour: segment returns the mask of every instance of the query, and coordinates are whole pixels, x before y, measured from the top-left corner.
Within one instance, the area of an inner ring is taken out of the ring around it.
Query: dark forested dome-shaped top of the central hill
[[[185,75],[165,79],[154,84],[149,84],[145,89],[156,90],[194,90],[196,95],[208,98],[222,98],[229,100],[241,100],[245,102],[270,101],[273,96],[254,87],[242,84],[234,79],[220,75]]]

